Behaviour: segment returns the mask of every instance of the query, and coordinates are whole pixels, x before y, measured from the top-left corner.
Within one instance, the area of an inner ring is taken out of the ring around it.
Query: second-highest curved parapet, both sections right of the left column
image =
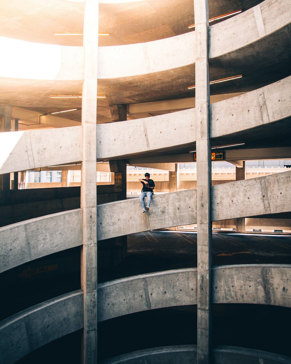
[[[291,76],[258,90],[211,104],[211,138],[288,118],[291,116],[290,102]],[[123,132],[125,128],[127,133]],[[190,145],[196,140],[195,109],[100,124],[97,125],[96,138],[97,159]],[[123,145],[122,152],[120,145]]]

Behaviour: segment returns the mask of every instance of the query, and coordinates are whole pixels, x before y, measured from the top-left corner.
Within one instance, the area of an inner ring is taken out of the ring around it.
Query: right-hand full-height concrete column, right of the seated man
[[[197,363],[211,363],[211,149],[209,138],[208,0],[194,0],[197,159]]]

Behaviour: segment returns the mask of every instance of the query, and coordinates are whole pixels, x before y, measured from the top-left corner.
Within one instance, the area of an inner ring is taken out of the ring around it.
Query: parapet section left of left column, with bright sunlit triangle
[[[0,174],[81,160],[81,126],[0,133]]]

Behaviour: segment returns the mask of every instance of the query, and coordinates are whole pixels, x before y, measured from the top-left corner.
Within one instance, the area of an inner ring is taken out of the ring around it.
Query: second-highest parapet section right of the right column
[[[251,129],[291,115],[291,76],[210,105],[211,138]]]

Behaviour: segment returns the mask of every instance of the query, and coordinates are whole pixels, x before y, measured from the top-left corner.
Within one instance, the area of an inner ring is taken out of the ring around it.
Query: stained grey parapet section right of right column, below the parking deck
[[[212,268],[213,303],[291,307],[290,264],[242,264]]]

